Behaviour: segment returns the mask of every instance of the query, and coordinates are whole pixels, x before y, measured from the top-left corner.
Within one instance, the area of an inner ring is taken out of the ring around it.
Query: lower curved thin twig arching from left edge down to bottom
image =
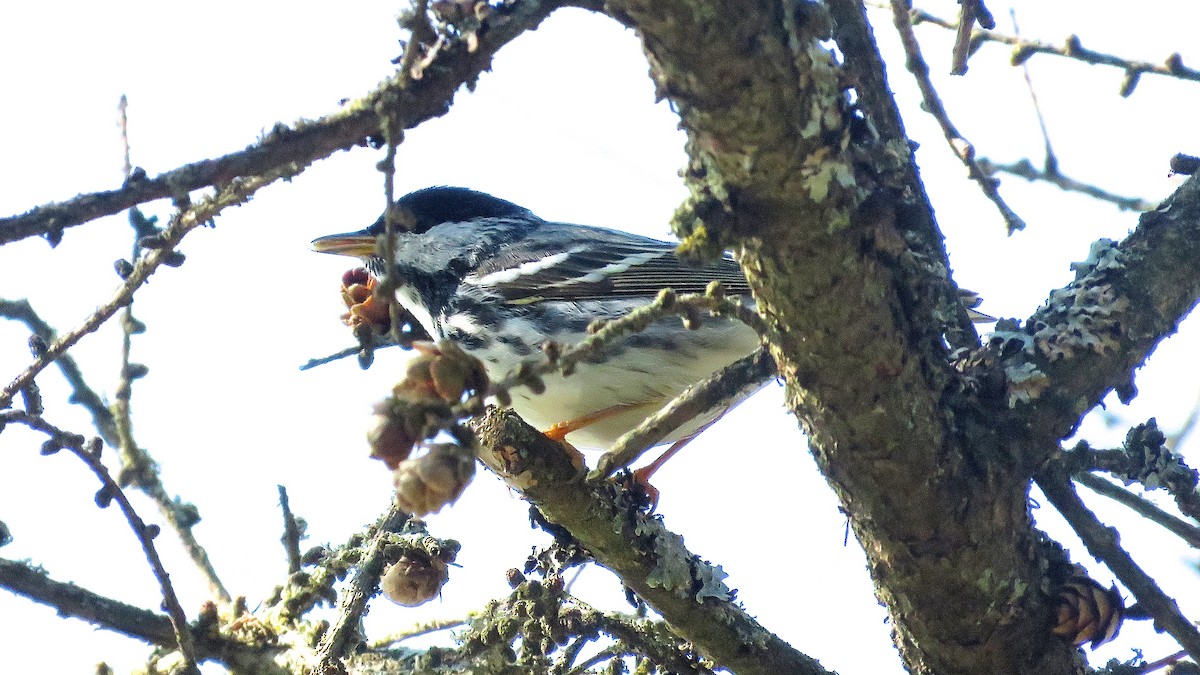
[[[142,516],[134,510],[133,504],[130,502],[128,496],[121,490],[121,486],[116,484],[112,474],[108,473],[108,468],[100,461],[100,449],[103,447],[103,442],[100,438],[92,440],[88,443],[83,436],[78,434],[70,434],[49,424],[40,417],[30,416],[23,411],[5,411],[0,412],[0,422],[5,423],[18,423],[41,431],[50,437],[48,443],[53,446],[43,446],[44,452],[54,452],[58,448],[66,448],[71,450],[76,456],[78,456],[88,468],[100,479],[101,489],[96,492],[96,503],[101,508],[107,506],[109,502],[115,501],[120,507],[121,513],[125,515],[125,520],[128,521],[130,527],[133,530],[133,534],[137,536],[138,543],[142,545],[142,551],[150,563],[150,569],[154,571],[155,579],[158,580],[158,587],[162,591],[163,607],[167,609],[167,615],[170,617],[170,623],[175,633],[175,644],[179,646],[179,651],[184,657],[185,669],[188,673],[199,673],[196,668],[196,646],[192,641],[192,633],[187,627],[187,616],[184,614],[184,608],[179,604],[179,598],[175,596],[175,589],[170,584],[170,577],[167,574],[167,569],[162,566],[162,558],[158,557],[158,551],[154,545],[154,538],[158,534],[157,526],[148,526]]]

